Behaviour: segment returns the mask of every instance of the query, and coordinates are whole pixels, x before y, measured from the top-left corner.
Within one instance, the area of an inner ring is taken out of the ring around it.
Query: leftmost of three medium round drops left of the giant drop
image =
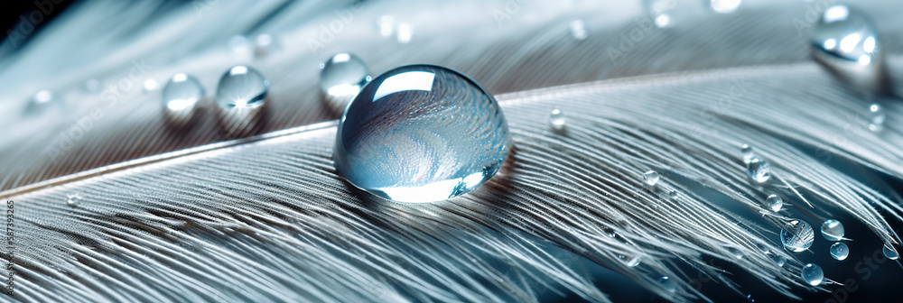
[[[204,97],[204,87],[198,78],[178,73],[166,82],[160,96],[167,120],[183,125],[191,121],[191,117],[197,112],[198,102]]]

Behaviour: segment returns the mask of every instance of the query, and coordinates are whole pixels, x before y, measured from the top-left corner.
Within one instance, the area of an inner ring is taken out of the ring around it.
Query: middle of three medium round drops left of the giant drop
[[[217,109],[219,124],[230,135],[253,129],[265,113],[270,81],[260,72],[243,65],[228,69],[219,78]]]

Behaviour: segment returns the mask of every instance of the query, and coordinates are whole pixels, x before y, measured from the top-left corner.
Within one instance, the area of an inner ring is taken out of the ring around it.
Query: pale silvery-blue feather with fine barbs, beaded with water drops
[[[876,22],[887,25],[881,29],[899,31],[889,26],[898,24],[895,11],[881,9],[892,4],[869,3]],[[643,30],[628,17],[643,17],[641,8],[531,2],[498,22],[492,11],[504,12],[504,2],[489,10],[477,2],[443,5],[405,15],[416,32],[398,44],[369,21],[416,8],[371,2],[312,55],[307,43],[319,25],[341,22],[321,12],[345,6],[203,4],[209,11],[83,3],[6,63],[0,82],[24,99],[34,77],[52,70],[35,62],[60,51],[53,45],[74,43],[52,38],[88,32],[98,26],[88,20],[109,16],[124,24],[91,41],[96,57],[79,54],[98,64],[63,66],[48,86],[76,87],[73,79],[86,75],[116,83],[148,58],[159,63],[146,78],[190,70],[213,87],[221,72],[250,59],[209,44],[243,31],[284,37],[284,50],[253,61],[273,79],[270,102],[279,110],[246,138],[218,133],[212,115],[189,130],[167,128],[159,96],[143,93],[140,81],[112,106],[103,93],[78,93],[72,99],[84,102],[67,100],[71,112],[11,126],[0,141],[0,197],[15,201],[14,299],[537,301],[551,292],[609,302],[619,292],[578,264],[671,301],[711,300],[694,285],[697,273],[743,294],[711,259],[783,298],[800,298],[804,262],[773,236],[791,216],[852,216],[882,242],[899,243],[892,225],[903,209],[891,183],[903,173],[903,138],[892,118],[903,109],[883,103],[891,119],[885,129],[865,128],[869,102],[807,59],[790,21],[805,18],[803,4],[747,1],[731,15],[678,6],[675,18],[684,19],[651,30],[622,60],[606,50],[618,47],[619,33]],[[585,13],[590,8],[597,15]],[[311,20],[296,21],[301,17]],[[567,35],[578,17],[591,31],[585,41]],[[756,31],[738,35],[749,24]],[[432,39],[445,27],[472,35]],[[116,42],[135,32],[129,43]],[[884,47],[890,68],[899,69],[898,42]],[[316,97],[314,67],[340,50],[356,50],[372,70],[449,66],[499,93],[515,141],[506,167],[472,194],[429,205],[354,189],[332,168],[337,113]],[[186,54],[191,60],[176,60]],[[30,64],[40,68],[24,72]],[[14,109],[7,116],[23,108],[2,105]],[[105,118],[71,140],[72,127],[98,108]],[[547,124],[554,108],[565,113],[563,133]],[[61,117],[68,120],[51,123]],[[70,144],[61,144],[65,135]],[[746,177],[744,143],[771,163],[767,184]],[[655,187],[644,186],[647,170],[663,176]],[[768,212],[760,201],[772,191],[794,202],[792,211]],[[83,197],[79,207],[65,203],[73,193]],[[773,262],[776,255],[788,260],[785,267]],[[640,265],[624,262],[633,258]]]

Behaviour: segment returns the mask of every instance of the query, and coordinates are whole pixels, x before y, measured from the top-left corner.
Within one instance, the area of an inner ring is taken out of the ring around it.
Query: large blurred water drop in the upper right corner
[[[824,10],[810,37],[815,60],[866,91],[882,89],[883,57],[870,18],[846,5]]]

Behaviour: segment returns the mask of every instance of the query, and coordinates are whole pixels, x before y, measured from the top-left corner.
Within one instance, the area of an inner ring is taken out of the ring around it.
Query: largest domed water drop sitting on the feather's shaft
[[[332,158],[357,188],[396,201],[431,202],[486,182],[511,143],[505,115],[489,92],[452,69],[411,65],[374,78],[351,101]]]

